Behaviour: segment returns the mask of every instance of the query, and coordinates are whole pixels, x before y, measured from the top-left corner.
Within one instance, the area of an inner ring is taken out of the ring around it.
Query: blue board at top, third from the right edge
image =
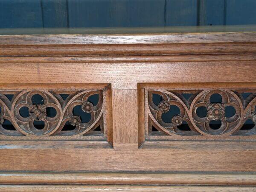
[[[197,25],[197,0],[166,0],[166,26]]]

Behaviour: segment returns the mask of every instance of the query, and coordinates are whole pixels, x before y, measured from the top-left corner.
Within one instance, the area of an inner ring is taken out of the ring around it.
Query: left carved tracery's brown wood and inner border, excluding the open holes
[[[86,85],[84,85],[86,88]],[[97,89],[26,89],[26,90],[0,90],[0,139],[5,140],[106,140],[111,144],[112,127],[108,127],[106,117],[108,116],[106,97],[110,85],[102,85]],[[64,100],[60,94],[68,93]],[[6,95],[12,94],[10,101]],[[32,96],[41,95],[44,104],[33,104]],[[99,101],[94,106],[87,99],[99,95]],[[81,121],[80,116],[73,114],[73,108],[81,105],[84,113],[90,113],[91,119],[87,123]],[[22,107],[28,108],[29,116],[20,115]],[[53,107],[56,111],[55,117],[47,116],[47,107]],[[4,120],[9,120],[15,130],[6,130],[2,127]],[[44,121],[44,128],[37,129],[33,122]],[[73,125],[73,130],[62,131],[66,122]],[[94,131],[100,126],[100,131]]]

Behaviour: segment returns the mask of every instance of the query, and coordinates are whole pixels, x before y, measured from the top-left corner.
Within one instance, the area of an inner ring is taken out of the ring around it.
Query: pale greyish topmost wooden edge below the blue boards
[[[0,45],[165,44],[212,42],[256,42],[256,32],[0,35]]]

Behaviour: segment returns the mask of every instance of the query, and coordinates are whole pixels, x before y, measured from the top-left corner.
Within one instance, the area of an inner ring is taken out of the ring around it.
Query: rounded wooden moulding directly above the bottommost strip
[[[0,184],[256,185],[256,173],[0,172]]]

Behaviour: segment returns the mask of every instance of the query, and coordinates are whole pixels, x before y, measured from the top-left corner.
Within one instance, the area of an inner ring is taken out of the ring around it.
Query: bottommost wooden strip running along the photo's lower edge
[[[145,186],[145,185],[0,185],[1,191],[12,192],[253,192],[255,186]]]

